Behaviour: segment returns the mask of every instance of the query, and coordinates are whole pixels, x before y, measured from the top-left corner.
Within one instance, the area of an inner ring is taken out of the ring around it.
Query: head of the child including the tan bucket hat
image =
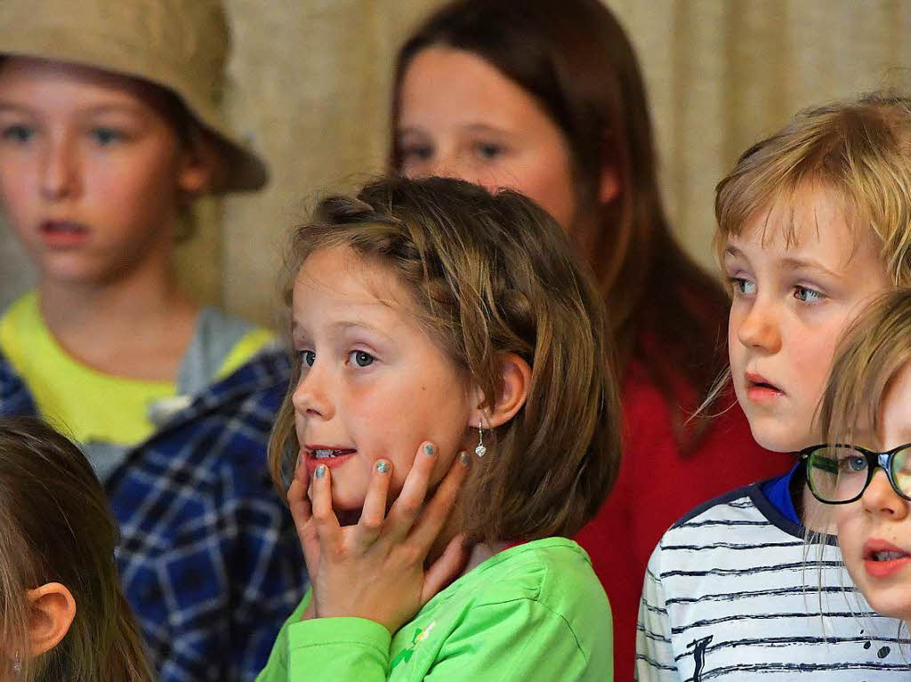
[[[167,267],[194,198],[265,182],[228,48],[220,0],[0,3],[0,205],[42,281]]]

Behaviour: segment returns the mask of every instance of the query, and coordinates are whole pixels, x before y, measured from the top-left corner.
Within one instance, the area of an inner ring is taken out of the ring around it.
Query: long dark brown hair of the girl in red
[[[578,210],[569,231],[584,245],[607,301],[620,367],[641,361],[682,422],[721,370],[728,299],[672,237],[658,188],[645,86],[630,40],[599,0],[456,0],[430,16],[398,53],[390,166],[405,71],[425,47],[472,52],[535,97],[565,137]],[[619,197],[599,201],[604,168]],[[667,283],[667,284],[666,284]],[[699,431],[698,429],[696,431]]]

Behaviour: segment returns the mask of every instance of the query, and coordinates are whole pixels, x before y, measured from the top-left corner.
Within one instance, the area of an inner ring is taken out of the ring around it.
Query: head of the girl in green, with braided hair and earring
[[[436,484],[480,426],[469,538],[572,535],[595,514],[619,463],[609,331],[544,210],[456,179],[380,179],[323,200],[288,264],[297,360],[276,481],[299,453],[312,471],[332,451],[333,505],[359,510],[375,460],[393,463],[397,495],[430,440]]]

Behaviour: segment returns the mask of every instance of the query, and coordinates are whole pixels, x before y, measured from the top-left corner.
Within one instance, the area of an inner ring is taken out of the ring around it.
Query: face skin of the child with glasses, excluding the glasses
[[[882,450],[911,443],[911,366],[885,392],[880,412]],[[883,616],[911,620],[911,503],[876,469],[863,497],[835,507],[838,545],[855,585]]]

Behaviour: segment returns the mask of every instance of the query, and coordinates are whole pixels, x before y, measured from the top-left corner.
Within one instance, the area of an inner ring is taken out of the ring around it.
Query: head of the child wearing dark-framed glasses
[[[870,606],[911,622],[911,290],[876,300],[838,351],[807,480],[834,508],[844,564]],[[852,447],[848,447],[848,446]]]

